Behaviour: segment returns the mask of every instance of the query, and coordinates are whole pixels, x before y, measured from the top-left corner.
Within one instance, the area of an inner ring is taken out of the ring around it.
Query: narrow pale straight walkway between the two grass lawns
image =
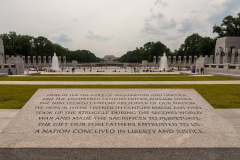
[[[240,84],[240,81],[0,81],[17,85],[178,85],[178,84]]]

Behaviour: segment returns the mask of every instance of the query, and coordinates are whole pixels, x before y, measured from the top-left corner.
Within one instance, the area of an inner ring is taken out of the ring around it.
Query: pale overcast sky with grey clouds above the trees
[[[237,16],[240,0],[0,0],[0,34],[44,36],[70,50],[120,57],[149,41],[172,51]]]

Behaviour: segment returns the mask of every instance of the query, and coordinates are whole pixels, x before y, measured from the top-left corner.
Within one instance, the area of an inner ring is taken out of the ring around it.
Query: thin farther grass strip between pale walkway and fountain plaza
[[[236,80],[213,76],[31,76],[31,77],[0,77],[0,81],[219,81]]]

